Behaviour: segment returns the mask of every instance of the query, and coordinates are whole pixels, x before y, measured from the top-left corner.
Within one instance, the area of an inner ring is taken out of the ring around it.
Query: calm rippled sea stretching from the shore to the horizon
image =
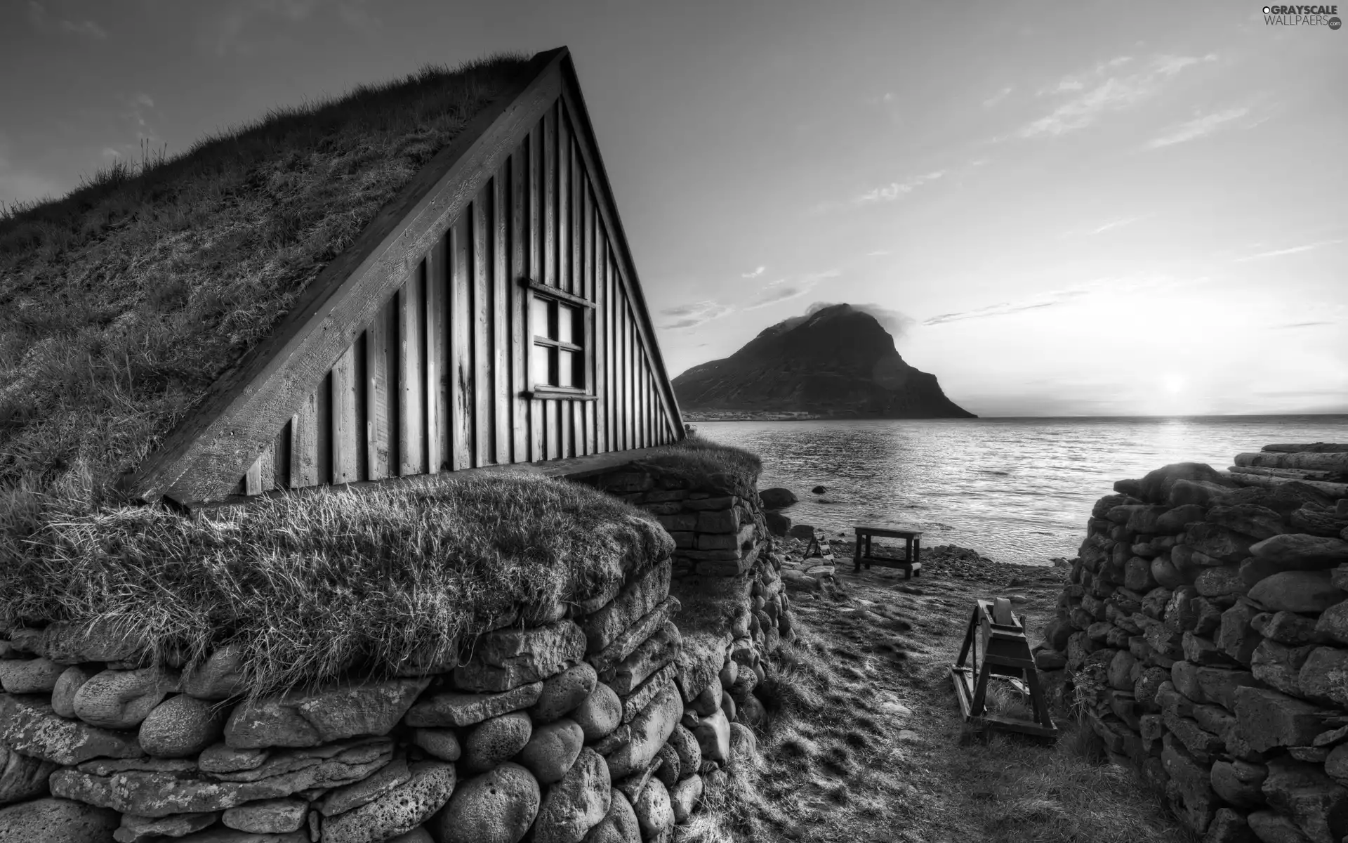
[[[1113,482],[1273,442],[1348,442],[1348,415],[697,422],[763,457],[759,488],[785,486],[795,523],[852,534],[867,522],[923,530],[998,561],[1076,556],[1091,504]],[[828,487],[811,495],[814,486]]]

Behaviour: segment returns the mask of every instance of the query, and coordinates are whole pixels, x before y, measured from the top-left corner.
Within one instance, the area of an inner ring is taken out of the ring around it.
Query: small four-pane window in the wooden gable
[[[530,303],[530,382],[534,394],[588,397],[590,348],[588,330],[594,303],[526,281]]]

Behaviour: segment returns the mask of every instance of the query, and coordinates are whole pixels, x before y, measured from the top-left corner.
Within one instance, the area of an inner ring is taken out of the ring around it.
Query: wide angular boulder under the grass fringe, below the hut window
[[[466,691],[501,692],[561,673],[585,656],[585,633],[572,620],[506,629],[477,638],[473,657],[454,668]]]

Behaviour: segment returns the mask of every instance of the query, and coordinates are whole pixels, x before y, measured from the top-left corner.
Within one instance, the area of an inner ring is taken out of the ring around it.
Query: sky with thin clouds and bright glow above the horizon
[[[5,0],[0,201],[562,45],[671,376],[849,302],[980,415],[1348,413],[1348,27],[1250,3]]]

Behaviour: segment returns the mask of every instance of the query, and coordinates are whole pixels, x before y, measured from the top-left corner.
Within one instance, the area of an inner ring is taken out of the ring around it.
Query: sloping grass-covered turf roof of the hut
[[[0,214],[0,558],[133,469],[523,66],[515,55],[280,108]]]

